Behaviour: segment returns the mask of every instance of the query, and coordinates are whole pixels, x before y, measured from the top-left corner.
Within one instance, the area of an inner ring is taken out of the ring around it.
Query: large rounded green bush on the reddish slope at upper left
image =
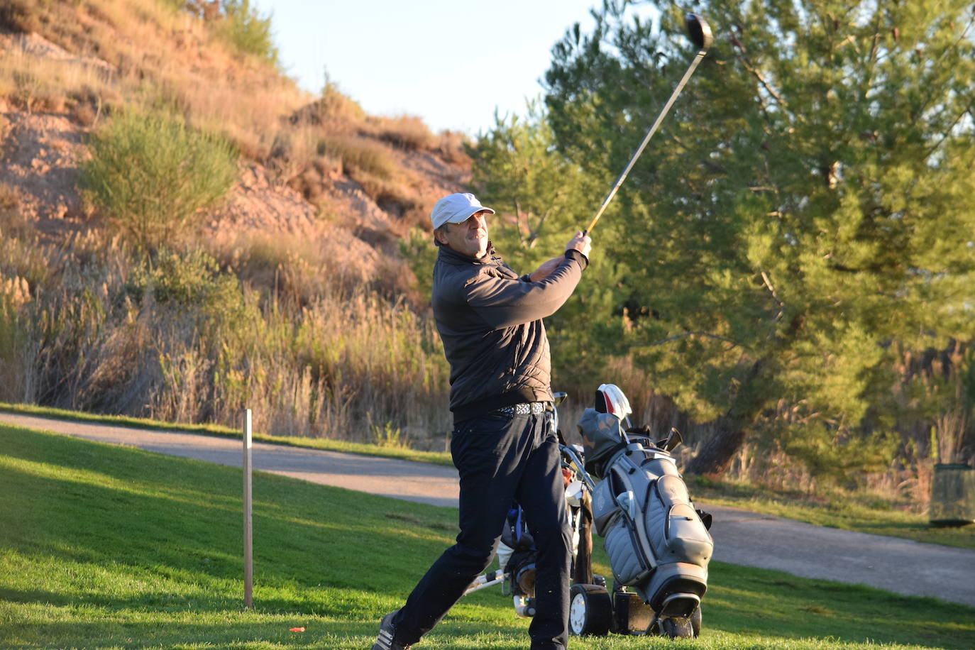
[[[237,176],[226,140],[165,116],[123,112],[92,137],[91,149],[82,186],[146,249],[182,231],[197,210],[215,205]]]

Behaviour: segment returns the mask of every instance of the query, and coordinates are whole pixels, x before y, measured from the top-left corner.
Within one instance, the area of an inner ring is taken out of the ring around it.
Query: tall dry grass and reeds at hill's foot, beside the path
[[[228,425],[250,407],[269,433],[367,441],[377,424],[443,448],[448,368],[433,325],[310,269],[329,257],[318,242],[246,244],[237,274],[199,252],[160,257],[161,283],[95,231],[44,251],[0,239],[5,259],[19,247],[48,265],[32,283],[0,267],[0,364],[18,378],[0,401]]]

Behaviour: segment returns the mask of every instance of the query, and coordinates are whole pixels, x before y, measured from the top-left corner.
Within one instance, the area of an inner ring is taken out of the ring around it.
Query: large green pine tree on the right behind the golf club
[[[628,342],[655,388],[718,424],[693,472],[760,434],[813,469],[882,463],[896,355],[973,334],[971,4],[694,7],[714,45],[595,233],[626,265]],[[669,3],[595,17],[553,49],[538,128],[604,179],[695,49]]]

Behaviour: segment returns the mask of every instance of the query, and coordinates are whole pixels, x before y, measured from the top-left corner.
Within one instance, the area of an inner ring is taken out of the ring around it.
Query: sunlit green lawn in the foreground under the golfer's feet
[[[240,486],[239,469],[0,426],[0,646],[370,647],[455,530],[452,509],[257,474],[245,611]],[[710,586],[697,640],[571,647],[975,647],[961,605],[718,562]],[[526,627],[488,589],[419,647],[514,650]]]

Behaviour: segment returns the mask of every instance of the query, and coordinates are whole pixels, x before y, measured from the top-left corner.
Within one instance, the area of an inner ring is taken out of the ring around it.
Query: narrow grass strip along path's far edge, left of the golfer
[[[38,417],[50,417],[56,420],[102,423],[118,427],[132,427],[135,429],[151,429],[153,431],[178,431],[189,434],[203,434],[206,436],[223,436],[241,438],[240,429],[231,429],[218,424],[173,424],[149,420],[147,418],[129,417],[125,415],[100,415],[98,413],[83,413],[81,411],[36,406],[34,404],[14,404],[0,401],[0,411],[8,413],[22,413]],[[254,432],[254,440],[288,444],[295,447],[309,449],[325,449],[327,451],[342,451],[345,453],[362,454],[366,456],[382,456],[384,458],[398,458],[423,463],[435,463],[453,467],[450,454],[443,451],[417,451],[399,446],[380,446],[365,442],[350,442],[346,440],[329,440],[325,438],[301,438],[298,436],[270,436]]]

